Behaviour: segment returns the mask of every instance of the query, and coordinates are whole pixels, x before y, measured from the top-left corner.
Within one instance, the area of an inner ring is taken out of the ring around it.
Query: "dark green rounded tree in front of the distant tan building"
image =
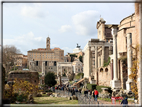
[[[48,85],[48,86],[50,86],[50,87],[54,86],[57,83],[57,81],[55,80],[55,75],[52,72],[48,72],[45,75],[44,81],[45,81],[45,84]]]

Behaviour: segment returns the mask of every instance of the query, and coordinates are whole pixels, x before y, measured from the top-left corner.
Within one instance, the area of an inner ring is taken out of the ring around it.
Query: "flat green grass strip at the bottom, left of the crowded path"
[[[78,104],[78,100],[61,97],[34,97],[35,104]]]

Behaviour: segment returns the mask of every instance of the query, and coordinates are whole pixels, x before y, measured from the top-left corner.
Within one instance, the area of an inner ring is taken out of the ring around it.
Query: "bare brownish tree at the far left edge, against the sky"
[[[3,47],[3,65],[6,74],[10,71],[11,67],[14,66],[16,58],[14,55],[20,54],[20,50],[13,45],[5,45]]]

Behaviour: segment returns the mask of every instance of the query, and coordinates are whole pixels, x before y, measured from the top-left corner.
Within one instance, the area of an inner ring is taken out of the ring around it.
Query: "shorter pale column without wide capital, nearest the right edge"
[[[126,89],[131,90],[131,82],[132,79],[129,78],[129,75],[131,74],[131,67],[132,67],[132,34],[127,34],[127,69],[128,69],[128,80],[126,82]]]

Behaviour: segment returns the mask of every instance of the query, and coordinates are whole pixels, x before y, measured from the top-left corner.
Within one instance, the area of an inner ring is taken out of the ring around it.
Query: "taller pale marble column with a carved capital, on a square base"
[[[117,26],[112,26],[113,36],[113,81],[112,89],[121,88],[120,80],[118,80],[118,69],[117,69]]]

